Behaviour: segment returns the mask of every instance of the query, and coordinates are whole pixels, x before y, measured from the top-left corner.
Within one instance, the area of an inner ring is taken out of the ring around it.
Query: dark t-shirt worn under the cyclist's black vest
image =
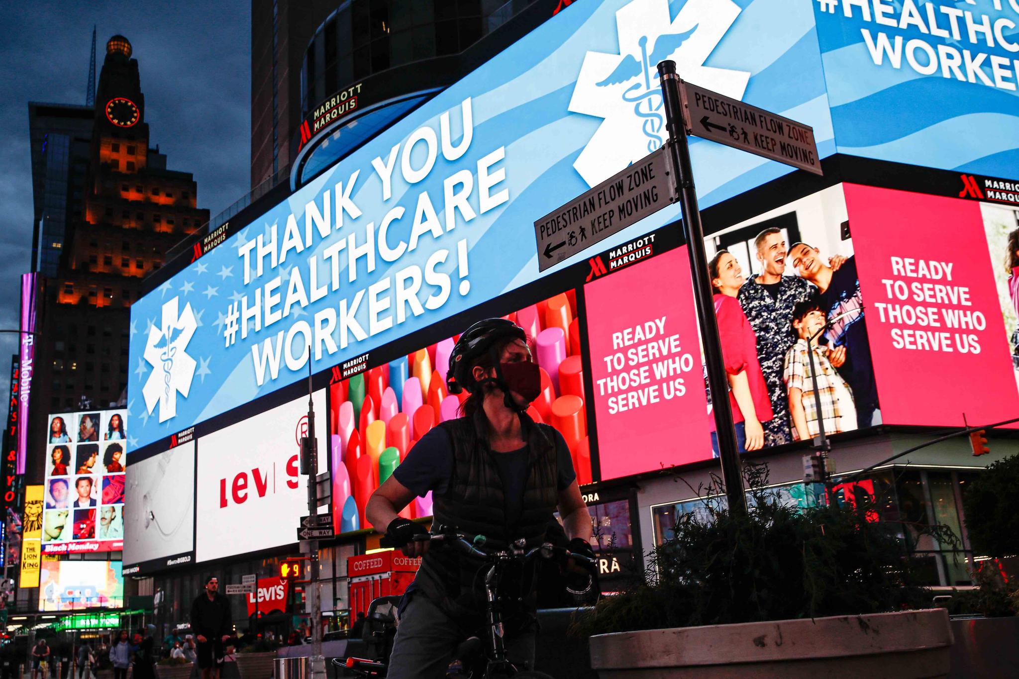
[[[546,430],[547,431],[547,430]],[[570,449],[562,435],[554,431],[555,456],[558,477],[556,487],[562,491],[574,482],[577,473],[573,468]],[[516,523],[524,511],[524,487],[527,484],[527,454],[525,446],[507,453],[494,453],[495,465],[502,479],[502,495],[505,498],[505,514],[508,523]],[[452,442],[449,434],[436,427],[414,444],[407,458],[399,463],[393,475],[415,495],[423,496],[428,491],[442,495],[448,490],[452,475]]]

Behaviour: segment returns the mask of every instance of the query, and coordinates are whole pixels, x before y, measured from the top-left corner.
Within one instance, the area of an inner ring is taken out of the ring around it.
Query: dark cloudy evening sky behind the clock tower
[[[28,105],[85,104],[93,24],[97,79],[110,36],[130,41],[151,144],[169,169],[195,173],[199,207],[215,215],[250,184],[251,0],[0,2],[0,328],[17,328],[18,278],[30,268]],[[0,394],[16,337],[0,334]]]

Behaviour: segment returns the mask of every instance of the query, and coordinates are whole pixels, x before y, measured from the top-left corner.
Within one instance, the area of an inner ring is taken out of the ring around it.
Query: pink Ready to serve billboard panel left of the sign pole
[[[601,477],[710,457],[686,247],[589,283],[585,298]]]

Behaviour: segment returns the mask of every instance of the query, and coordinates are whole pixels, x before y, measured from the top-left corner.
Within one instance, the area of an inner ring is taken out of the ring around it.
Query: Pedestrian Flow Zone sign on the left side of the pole
[[[674,203],[671,168],[668,149],[662,147],[536,221],[538,271]]]

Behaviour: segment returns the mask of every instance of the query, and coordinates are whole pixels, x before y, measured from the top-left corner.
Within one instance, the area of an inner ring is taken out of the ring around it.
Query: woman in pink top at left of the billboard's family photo
[[[721,358],[729,377],[737,439],[742,438],[739,436],[742,429],[746,441],[741,448],[758,450],[764,445],[761,422],[771,419],[773,413],[757,360],[757,336],[736,298],[745,280],[743,271],[731,252],[720,250],[708,263],[708,274],[714,289],[714,313],[718,319]]]

